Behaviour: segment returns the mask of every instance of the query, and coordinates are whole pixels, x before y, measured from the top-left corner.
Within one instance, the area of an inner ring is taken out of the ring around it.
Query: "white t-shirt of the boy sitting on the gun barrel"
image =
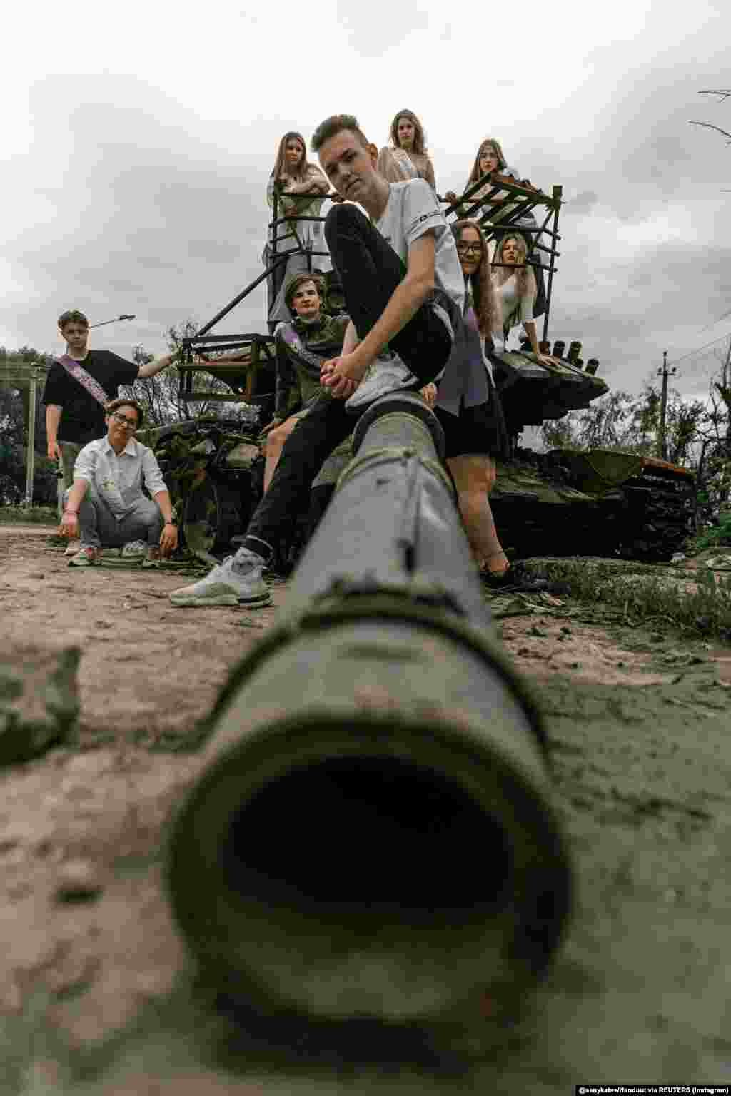
[[[434,232],[434,285],[454,302],[459,317],[465,307],[465,277],[452,229],[439,208],[436,194],[423,179],[389,183],[388,203],[376,228],[409,265],[409,248],[430,230]],[[438,310],[439,293],[435,304]]]

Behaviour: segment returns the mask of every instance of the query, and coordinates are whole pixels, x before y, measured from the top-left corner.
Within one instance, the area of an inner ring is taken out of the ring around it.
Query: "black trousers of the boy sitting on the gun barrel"
[[[333,206],[324,222],[324,236],[341,277],[347,312],[363,339],[402,281],[403,264],[355,206]],[[422,305],[389,346],[421,385],[426,385],[446,365],[452,338],[434,311]],[[249,523],[244,548],[266,558],[276,540],[292,535],[299,513],[309,506],[312,480],[354,425],[355,416],[345,411],[344,400],[319,398],[284,444],[269,491]]]

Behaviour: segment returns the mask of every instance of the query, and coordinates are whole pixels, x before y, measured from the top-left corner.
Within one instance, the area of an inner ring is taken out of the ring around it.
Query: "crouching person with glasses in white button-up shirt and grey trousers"
[[[73,466],[73,486],[64,492],[59,533],[80,537],[69,567],[98,563],[102,548],[133,547],[155,566],[178,547],[170,494],[155,454],[135,433],[142,408],[124,397],[106,404],[106,437],[89,442]],[[142,487],[155,501],[142,494]]]

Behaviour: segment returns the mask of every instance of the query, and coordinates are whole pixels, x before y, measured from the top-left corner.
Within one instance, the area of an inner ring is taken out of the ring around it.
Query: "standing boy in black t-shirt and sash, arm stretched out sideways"
[[[78,362],[101,386],[107,401],[117,398],[119,385],[153,377],[175,357],[174,354],[163,354],[138,367],[112,351],[89,350],[89,320],[76,308],[59,316],[58,328],[66,340],[68,357]],[[54,362],[48,370],[43,402],[46,404],[48,456],[52,460],[61,461],[66,489],[73,482],[73,465],[81,448],[106,434],[104,408],[59,362]],[[76,549],[76,545],[69,546],[69,551]]]

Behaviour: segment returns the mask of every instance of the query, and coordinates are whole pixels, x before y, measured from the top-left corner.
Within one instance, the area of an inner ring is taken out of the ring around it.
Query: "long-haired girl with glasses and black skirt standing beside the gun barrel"
[[[446,438],[446,460],[475,560],[491,584],[506,581],[509,562],[498,539],[488,494],[495,459],[509,454],[500,397],[489,353],[501,312],[490,276],[488,246],[479,226],[452,226],[466,283],[465,323],[439,383],[434,411]]]

